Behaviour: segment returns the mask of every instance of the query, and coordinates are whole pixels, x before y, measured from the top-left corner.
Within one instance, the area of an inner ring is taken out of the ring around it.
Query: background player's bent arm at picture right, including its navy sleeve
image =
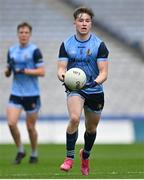
[[[31,75],[31,76],[44,76],[45,75],[45,68],[43,62],[43,56],[39,49],[36,49],[33,54],[33,59],[36,65],[34,69],[24,69],[24,74]]]

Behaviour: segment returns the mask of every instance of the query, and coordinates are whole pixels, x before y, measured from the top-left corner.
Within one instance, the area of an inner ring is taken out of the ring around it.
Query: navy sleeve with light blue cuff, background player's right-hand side
[[[37,48],[34,50],[33,59],[34,59],[36,66],[42,66],[44,64],[43,56],[42,56],[40,49]]]

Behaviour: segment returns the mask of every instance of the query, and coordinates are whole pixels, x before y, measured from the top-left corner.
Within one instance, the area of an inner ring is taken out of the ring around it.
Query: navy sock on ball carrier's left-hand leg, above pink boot
[[[66,133],[66,149],[67,149],[67,157],[74,159],[74,150],[75,143],[78,138],[78,131],[73,134]]]

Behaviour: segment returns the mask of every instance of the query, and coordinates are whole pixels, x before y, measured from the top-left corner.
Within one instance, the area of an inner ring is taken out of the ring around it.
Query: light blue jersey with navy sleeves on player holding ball
[[[67,70],[81,68],[87,76],[87,82],[94,81],[99,75],[98,61],[107,61],[108,50],[96,35],[90,34],[89,39],[80,41],[75,35],[66,39],[60,47],[59,61],[68,61]],[[82,90],[87,94],[103,92],[103,86]]]

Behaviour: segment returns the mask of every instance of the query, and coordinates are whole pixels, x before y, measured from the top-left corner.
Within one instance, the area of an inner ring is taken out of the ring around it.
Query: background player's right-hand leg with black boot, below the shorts
[[[27,130],[28,130],[29,139],[31,143],[31,149],[32,149],[32,153],[29,160],[30,163],[36,163],[38,161],[38,157],[37,157],[38,156],[37,154],[38,134],[35,127],[37,117],[38,117],[37,112],[27,114],[26,124],[27,124]]]

